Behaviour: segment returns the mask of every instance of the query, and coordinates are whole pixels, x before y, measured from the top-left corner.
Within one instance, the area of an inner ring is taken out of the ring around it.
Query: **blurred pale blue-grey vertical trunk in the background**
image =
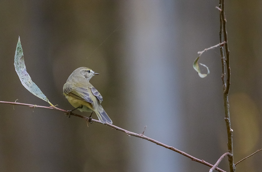
[[[181,147],[175,25],[172,1],[128,1],[121,10],[126,26],[122,51],[125,55],[128,119],[133,131]],[[132,143],[128,171],[183,171],[179,154],[158,148],[144,140]]]

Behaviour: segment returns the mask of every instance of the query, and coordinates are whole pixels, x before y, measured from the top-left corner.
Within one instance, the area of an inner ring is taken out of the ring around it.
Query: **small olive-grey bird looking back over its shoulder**
[[[112,124],[112,120],[108,117],[101,106],[101,102],[103,101],[101,94],[89,82],[94,75],[99,75],[99,73],[95,73],[87,67],[77,68],[72,74],[70,74],[64,84],[63,93],[65,98],[67,98],[69,103],[74,106],[75,109],[78,109],[81,112],[94,111],[99,121],[103,124],[106,122]]]

